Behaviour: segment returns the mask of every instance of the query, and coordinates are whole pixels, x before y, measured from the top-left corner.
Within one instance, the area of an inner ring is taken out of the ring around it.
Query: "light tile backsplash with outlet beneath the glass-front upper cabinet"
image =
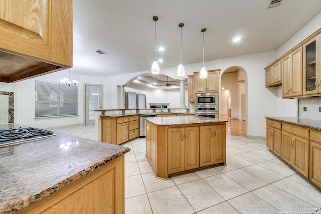
[[[298,99],[298,115],[301,118],[321,120],[321,97]]]

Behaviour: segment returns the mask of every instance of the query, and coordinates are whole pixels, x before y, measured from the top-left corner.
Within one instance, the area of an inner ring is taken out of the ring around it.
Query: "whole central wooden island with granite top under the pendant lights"
[[[156,177],[226,165],[226,122],[196,116],[146,118],[146,158]]]

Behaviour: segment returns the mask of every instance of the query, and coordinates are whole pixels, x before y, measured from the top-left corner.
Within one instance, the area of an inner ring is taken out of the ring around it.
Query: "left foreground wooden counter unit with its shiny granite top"
[[[0,146],[0,213],[124,213],[129,150],[64,134]]]

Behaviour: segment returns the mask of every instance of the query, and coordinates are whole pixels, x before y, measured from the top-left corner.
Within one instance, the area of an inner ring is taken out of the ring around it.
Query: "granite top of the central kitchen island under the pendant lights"
[[[146,120],[158,126],[175,126],[175,125],[193,125],[207,123],[222,123],[227,120],[211,118],[211,117],[196,117],[196,116],[178,116],[178,117],[146,117]]]

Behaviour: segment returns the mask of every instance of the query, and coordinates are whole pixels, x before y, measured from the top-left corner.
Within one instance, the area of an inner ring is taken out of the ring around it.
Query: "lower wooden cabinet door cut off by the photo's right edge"
[[[309,179],[321,188],[321,144],[310,141]]]

